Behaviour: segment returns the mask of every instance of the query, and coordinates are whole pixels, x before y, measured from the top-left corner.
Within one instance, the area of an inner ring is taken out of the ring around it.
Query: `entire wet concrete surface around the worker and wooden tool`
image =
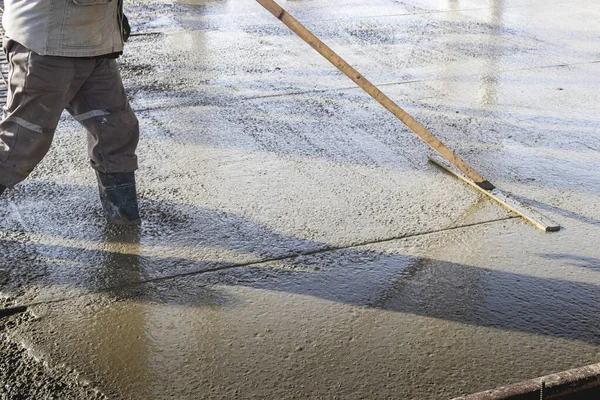
[[[65,116],[0,199],[3,306],[28,306],[0,396],[439,399],[598,362],[600,6],[282,5],[564,229],[429,165],[257,3],[129,2],[144,222],[105,226]]]

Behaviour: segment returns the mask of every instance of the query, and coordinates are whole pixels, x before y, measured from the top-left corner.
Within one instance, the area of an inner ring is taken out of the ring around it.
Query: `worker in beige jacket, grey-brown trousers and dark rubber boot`
[[[139,125],[115,60],[129,36],[123,0],[4,4],[9,90],[0,122],[0,193],[24,180],[46,155],[66,109],[88,132],[108,221],[139,222]]]

